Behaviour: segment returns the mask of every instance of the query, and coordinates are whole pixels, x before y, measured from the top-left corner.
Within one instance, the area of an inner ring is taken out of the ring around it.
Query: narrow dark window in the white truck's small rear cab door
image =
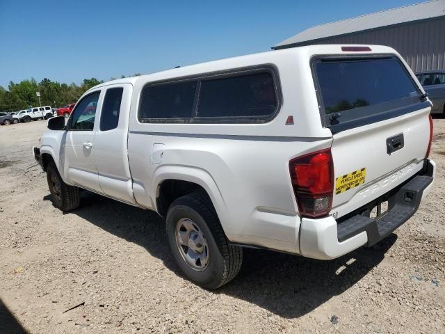
[[[120,102],[124,88],[108,88],[100,116],[100,131],[115,129],[119,124]]]

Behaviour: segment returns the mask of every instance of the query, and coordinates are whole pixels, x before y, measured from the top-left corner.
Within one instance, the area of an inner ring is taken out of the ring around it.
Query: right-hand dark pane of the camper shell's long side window
[[[268,72],[202,81],[197,117],[266,118],[277,107]]]

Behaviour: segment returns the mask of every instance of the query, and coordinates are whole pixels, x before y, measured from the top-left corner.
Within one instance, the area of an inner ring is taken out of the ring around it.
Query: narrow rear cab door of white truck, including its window
[[[102,191],[107,196],[136,204],[127,152],[132,90],[131,84],[108,86],[104,90],[94,145]]]

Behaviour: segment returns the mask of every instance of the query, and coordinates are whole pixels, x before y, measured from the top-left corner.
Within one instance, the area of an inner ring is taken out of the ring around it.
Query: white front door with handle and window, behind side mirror
[[[69,182],[102,193],[95,164],[94,138],[98,121],[95,119],[100,90],[83,97],[67,122],[65,140],[65,175]]]

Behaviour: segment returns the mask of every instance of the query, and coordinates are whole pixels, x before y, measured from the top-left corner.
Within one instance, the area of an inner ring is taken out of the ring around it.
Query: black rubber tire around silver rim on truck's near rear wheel
[[[177,223],[184,218],[193,221],[205,236],[209,260],[207,267],[201,271],[193,269],[186,262],[181,246],[178,246]],[[191,193],[172,202],[167,213],[166,230],[179,269],[193,283],[206,289],[217,289],[229,283],[240,271],[243,248],[229,244],[207,194]]]

